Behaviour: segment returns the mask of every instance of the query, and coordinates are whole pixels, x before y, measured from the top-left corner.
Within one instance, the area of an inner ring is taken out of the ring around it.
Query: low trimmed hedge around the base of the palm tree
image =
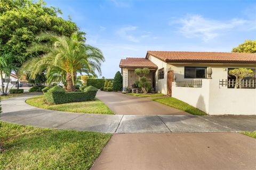
[[[65,92],[65,89],[54,86],[44,93],[45,99],[51,104],[63,104],[77,101],[93,100],[98,89],[92,86],[86,87],[84,91]]]

